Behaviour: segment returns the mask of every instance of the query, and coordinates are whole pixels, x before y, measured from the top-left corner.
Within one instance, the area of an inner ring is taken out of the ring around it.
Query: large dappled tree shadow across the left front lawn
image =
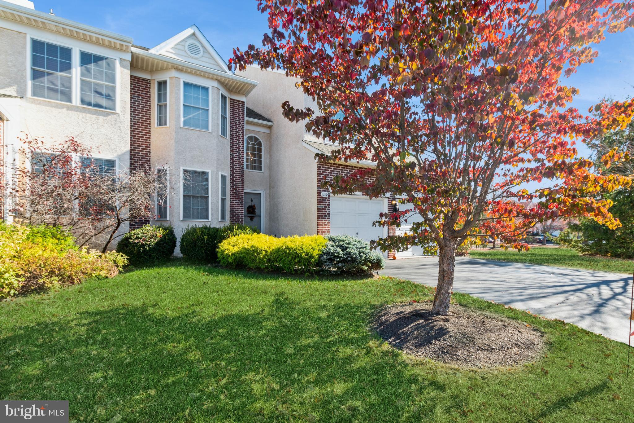
[[[411,413],[416,377],[349,322],[345,306],[302,306],[283,293],[268,311],[221,315],[98,306],[0,337],[0,398],[68,400],[71,420],[91,422],[394,421]],[[444,386],[425,389],[435,395]],[[415,413],[420,420],[431,411]]]

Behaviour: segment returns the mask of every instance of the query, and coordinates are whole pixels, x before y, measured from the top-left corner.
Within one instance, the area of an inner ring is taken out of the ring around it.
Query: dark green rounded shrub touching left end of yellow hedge
[[[181,254],[191,261],[213,263],[218,259],[217,249],[221,242],[236,235],[252,233],[257,231],[247,225],[187,226],[181,235]]]

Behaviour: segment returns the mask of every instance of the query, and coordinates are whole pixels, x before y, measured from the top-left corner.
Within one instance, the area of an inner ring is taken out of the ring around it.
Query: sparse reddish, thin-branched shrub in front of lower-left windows
[[[82,246],[106,252],[127,223],[155,218],[154,195],[169,188],[167,174],[117,169],[74,138],[50,144],[25,135],[20,143],[1,187],[10,212],[31,225],[61,226]]]

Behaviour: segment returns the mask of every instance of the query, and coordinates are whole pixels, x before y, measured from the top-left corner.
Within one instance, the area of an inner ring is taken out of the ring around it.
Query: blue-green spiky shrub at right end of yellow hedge
[[[385,260],[370,243],[351,235],[326,235],[328,240],[321,252],[323,273],[367,273],[383,268]]]

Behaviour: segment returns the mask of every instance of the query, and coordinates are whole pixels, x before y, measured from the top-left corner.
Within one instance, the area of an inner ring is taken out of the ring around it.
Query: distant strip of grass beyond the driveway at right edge
[[[529,251],[517,252],[508,249],[479,250],[469,252],[469,256],[477,259],[514,261],[515,263],[545,264],[575,269],[604,270],[631,275],[634,261],[614,259],[611,257],[582,256],[571,248],[534,247]]]

